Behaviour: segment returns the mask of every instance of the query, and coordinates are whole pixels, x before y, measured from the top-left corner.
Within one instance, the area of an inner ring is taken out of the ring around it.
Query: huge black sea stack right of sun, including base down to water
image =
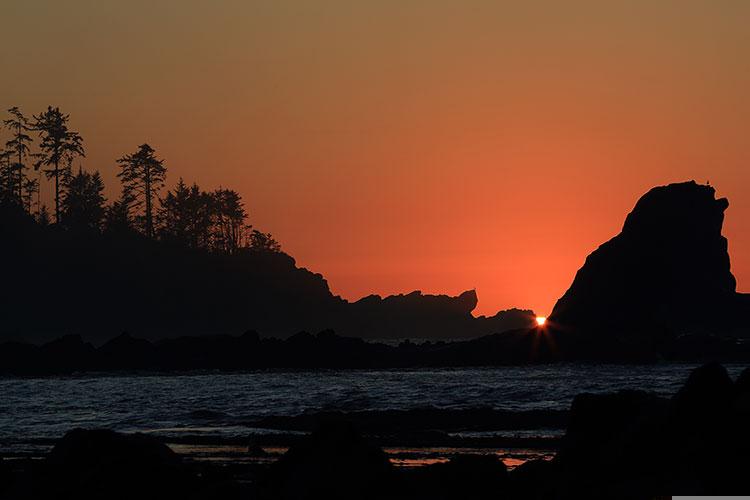
[[[750,296],[736,292],[729,203],[694,181],[653,188],[586,258],[550,314],[563,359],[746,359]]]

